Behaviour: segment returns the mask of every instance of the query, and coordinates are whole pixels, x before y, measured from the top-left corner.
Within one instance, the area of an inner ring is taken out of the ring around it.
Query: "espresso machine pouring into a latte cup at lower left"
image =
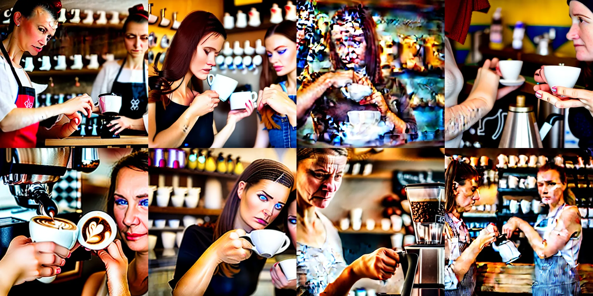
[[[0,258],[11,240],[18,235],[28,236],[28,220],[13,217],[17,213],[35,209],[37,215],[62,217],[78,221],[81,213],[60,214],[52,199],[52,189],[66,170],[93,172],[99,165],[97,148],[2,148],[0,176],[20,208],[9,217],[0,217]]]

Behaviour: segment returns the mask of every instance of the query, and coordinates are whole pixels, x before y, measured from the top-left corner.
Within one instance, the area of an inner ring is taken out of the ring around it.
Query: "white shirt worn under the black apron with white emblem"
[[[93,83],[93,91],[91,92],[91,98],[93,98],[93,102],[97,102],[100,94],[111,92],[111,87],[113,87],[115,76],[117,76],[117,72],[119,72],[119,68],[122,66],[121,64],[117,63],[118,61],[120,60],[111,60],[109,62],[105,62],[101,67],[101,70],[99,71],[97,78],[95,78],[95,82]],[[119,78],[117,78],[117,82],[142,83],[142,76],[146,78],[146,94],[148,94],[148,69],[143,71],[123,68],[122,73],[120,73]],[[148,131],[148,105],[144,115],[142,115],[142,120],[144,121],[144,128]]]

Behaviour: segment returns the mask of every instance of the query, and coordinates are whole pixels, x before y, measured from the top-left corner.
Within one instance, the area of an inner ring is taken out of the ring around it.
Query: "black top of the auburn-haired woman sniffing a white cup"
[[[162,102],[157,102],[157,133],[169,128],[181,114],[187,110],[189,106],[180,105],[176,102],[170,101],[167,109],[162,108]],[[209,112],[206,115],[200,116],[192,130],[187,133],[187,137],[183,140],[183,144],[179,147],[192,148],[209,148],[214,141],[214,131],[212,130],[212,123],[214,121],[214,113]]]

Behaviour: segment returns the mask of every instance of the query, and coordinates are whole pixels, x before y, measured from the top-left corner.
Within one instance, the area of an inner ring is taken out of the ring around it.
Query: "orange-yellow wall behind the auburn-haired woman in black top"
[[[168,18],[169,20],[171,20],[171,18],[173,17],[173,12],[175,11],[178,12],[178,21],[182,21],[187,14],[194,10],[205,10],[212,12],[221,22],[222,17],[224,16],[224,5],[222,0],[154,0],[150,2],[154,3],[154,6],[152,6],[152,14],[157,15],[159,17],[157,24],[161,21],[160,12],[162,8],[167,8],[167,10],[165,10],[165,18]],[[247,13],[247,11],[244,12]],[[154,32],[158,37],[157,46],[152,48],[152,52],[154,52],[155,56],[157,55],[157,53],[163,52],[165,50],[162,49],[160,46],[161,37],[164,34],[167,34],[167,37],[171,38],[173,37],[173,34],[175,34],[175,30],[171,30],[170,28],[171,25],[169,25],[169,27],[167,28],[163,28],[159,27],[157,24],[148,26],[148,30]],[[173,24],[173,22],[171,22],[171,24]],[[233,41],[238,40],[241,42],[241,47],[243,47],[243,42],[245,40],[250,40],[251,46],[254,47],[255,41],[257,39],[263,40],[263,36],[265,34],[266,30],[254,30],[243,33],[232,33],[227,34],[227,41],[231,43],[232,47]],[[152,67],[150,68],[150,71],[151,72],[149,75],[154,75]]]

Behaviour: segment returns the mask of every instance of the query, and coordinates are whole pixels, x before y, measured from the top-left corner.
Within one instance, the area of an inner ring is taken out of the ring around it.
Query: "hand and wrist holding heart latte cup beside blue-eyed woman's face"
[[[122,242],[114,240],[106,249],[98,250],[97,256],[105,263],[109,295],[129,295],[127,257],[123,253]]]

